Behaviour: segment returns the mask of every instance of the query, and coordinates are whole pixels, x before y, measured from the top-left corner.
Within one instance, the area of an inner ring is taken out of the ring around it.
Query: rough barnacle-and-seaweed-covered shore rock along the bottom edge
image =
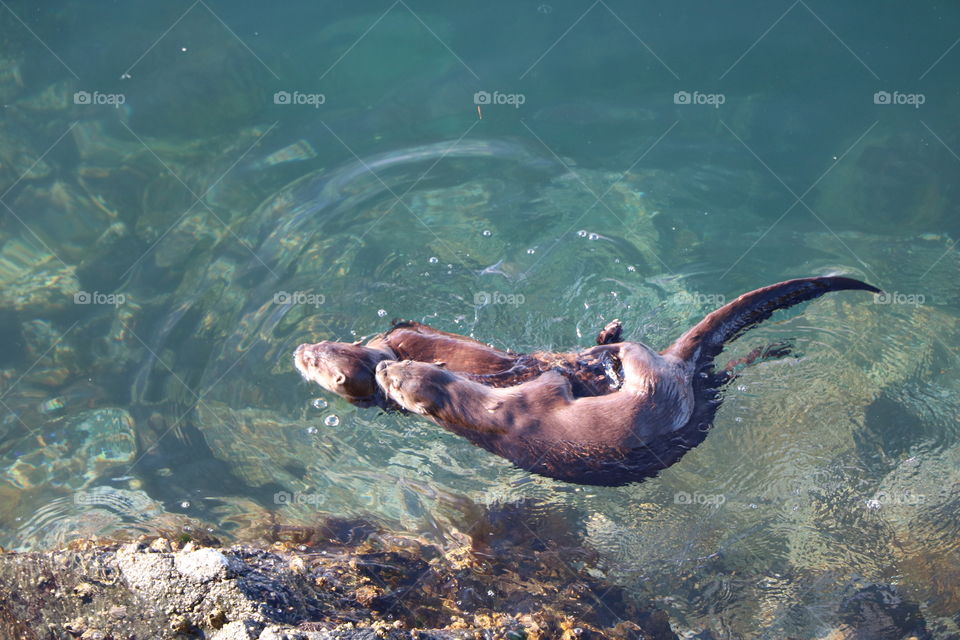
[[[148,540],[0,555],[0,624],[23,640],[94,631],[221,640],[677,638],[662,613],[620,589],[558,571],[566,563],[554,549],[500,556],[377,532],[269,551]]]

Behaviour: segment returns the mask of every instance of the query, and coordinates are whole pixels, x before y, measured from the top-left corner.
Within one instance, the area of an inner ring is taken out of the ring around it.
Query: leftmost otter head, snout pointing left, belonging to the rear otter
[[[306,380],[360,407],[381,404],[374,378],[378,362],[393,354],[359,344],[330,342],[302,344],[293,352],[293,362]]]

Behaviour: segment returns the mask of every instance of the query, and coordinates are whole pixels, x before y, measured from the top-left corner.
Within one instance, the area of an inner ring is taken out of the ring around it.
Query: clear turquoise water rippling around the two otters
[[[566,526],[678,629],[960,610],[960,10],[823,2],[0,8],[0,544],[362,515]],[[478,108],[479,107],[479,108]],[[357,409],[301,342],[410,318],[517,351],[782,313],[706,441],[619,489]],[[531,527],[531,544],[559,532]],[[853,604],[851,604],[853,603]],[[881,636],[876,637],[900,637]]]

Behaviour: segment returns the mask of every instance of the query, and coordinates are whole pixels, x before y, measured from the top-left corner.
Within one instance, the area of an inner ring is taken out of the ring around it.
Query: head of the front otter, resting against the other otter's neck
[[[423,416],[434,415],[446,403],[454,376],[436,365],[413,360],[377,365],[377,384],[389,400]]]

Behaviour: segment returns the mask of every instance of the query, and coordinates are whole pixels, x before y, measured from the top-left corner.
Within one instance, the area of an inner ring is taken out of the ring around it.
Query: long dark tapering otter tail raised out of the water
[[[779,282],[745,293],[708,314],[661,353],[683,360],[693,360],[697,370],[700,370],[712,364],[726,343],[736,340],[747,330],[769,318],[777,309],[786,309],[819,298],[828,291],[845,289],[880,293],[880,289],[865,282],[842,276],[798,278]]]

